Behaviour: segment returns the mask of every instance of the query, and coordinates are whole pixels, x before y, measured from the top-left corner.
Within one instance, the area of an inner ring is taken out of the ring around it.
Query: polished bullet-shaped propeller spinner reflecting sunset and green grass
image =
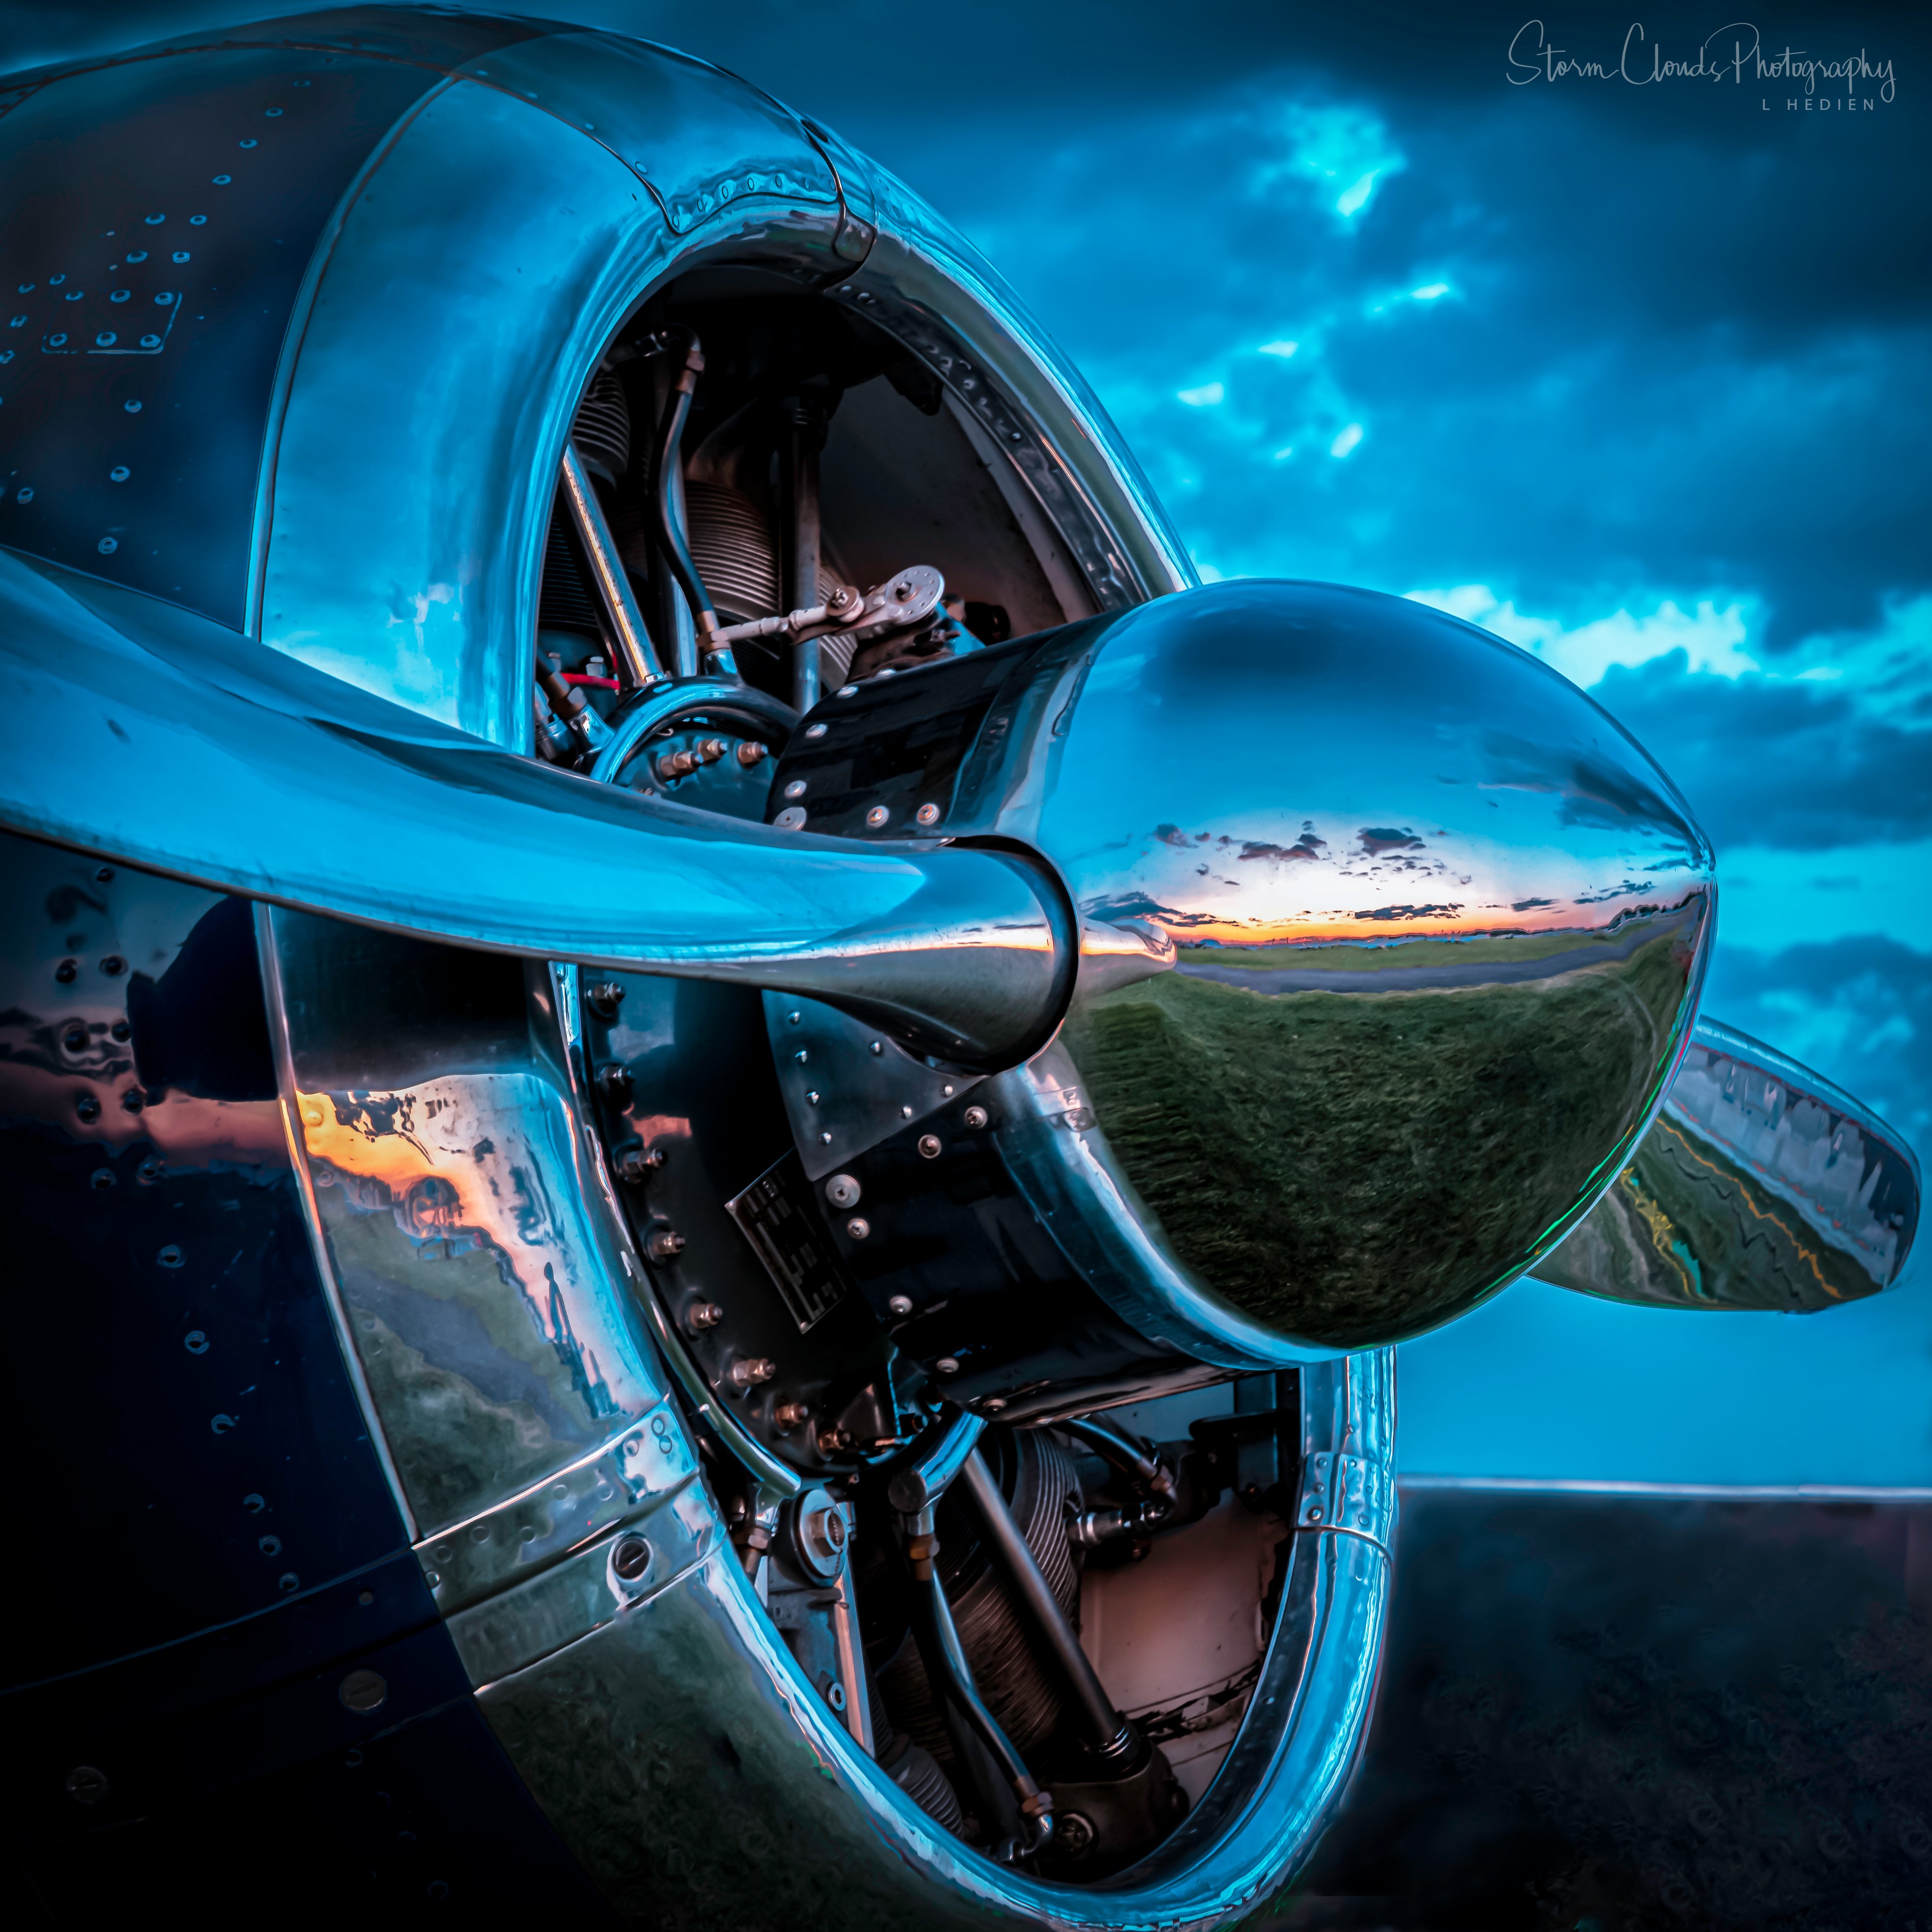
[[[1049,634],[945,825],[1173,941],[995,1111],[1094,1285],[1223,1366],[1422,1333],[1532,1267],[1648,1126],[1708,956],[1710,852],[1656,765],[1528,653],[1372,591]]]

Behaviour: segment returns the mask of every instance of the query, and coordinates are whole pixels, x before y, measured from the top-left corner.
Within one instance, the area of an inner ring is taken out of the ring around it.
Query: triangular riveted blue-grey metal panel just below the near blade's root
[[[974,1074],[937,1072],[815,999],[767,993],[765,1030],[808,1180],[823,1180],[980,1084]]]

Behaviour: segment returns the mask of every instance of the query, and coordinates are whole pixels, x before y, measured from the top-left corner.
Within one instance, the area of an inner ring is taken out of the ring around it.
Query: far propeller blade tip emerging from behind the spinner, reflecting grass
[[[1917,1229],[1918,1161],[1884,1121],[1700,1018],[1636,1157],[1536,1277],[1650,1308],[1810,1314],[1889,1289]]]

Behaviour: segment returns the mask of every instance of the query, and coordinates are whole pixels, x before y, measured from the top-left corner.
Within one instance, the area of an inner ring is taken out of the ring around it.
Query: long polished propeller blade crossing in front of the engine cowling
[[[0,694],[0,825],[214,891],[804,993],[970,1070],[1037,1051],[1072,991],[1078,929],[1043,866],[595,784],[14,553]]]

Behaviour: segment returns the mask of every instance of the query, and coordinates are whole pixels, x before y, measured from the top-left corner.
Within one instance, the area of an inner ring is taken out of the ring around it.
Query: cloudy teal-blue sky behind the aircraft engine
[[[0,39],[27,62],[259,12],[4,0]],[[1893,64],[1889,102],[1822,79],[1808,110],[1754,70],[1511,85],[1532,15],[1490,6],[547,12],[719,60],[922,191],[1082,365],[1204,572],[1418,595],[1592,690],[1719,850],[1706,1009],[1932,1153],[1922,10],[1762,15],[1768,58]],[[1634,19],[1644,71],[1723,17],[1580,8],[1544,37],[1615,68]],[[1511,1291],[1408,1350],[1405,1459],[1656,1474],[1592,1466],[1631,1453],[1577,1416],[1667,1352],[1687,1387],[1756,1391],[1690,1434],[1658,1397],[1677,1474],[1932,1482],[1913,1275],[1803,1325]],[[1548,1416],[1515,1447],[1472,1434],[1468,1379],[1528,1358],[1571,1364]],[[1818,1374],[1857,1422],[1804,1463],[1764,1391]]]

